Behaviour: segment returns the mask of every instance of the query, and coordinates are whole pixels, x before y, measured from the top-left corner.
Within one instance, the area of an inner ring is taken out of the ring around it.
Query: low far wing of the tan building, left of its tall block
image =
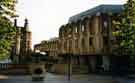
[[[58,38],[44,40],[40,44],[36,44],[34,50],[46,52],[48,56],[58,56]]]

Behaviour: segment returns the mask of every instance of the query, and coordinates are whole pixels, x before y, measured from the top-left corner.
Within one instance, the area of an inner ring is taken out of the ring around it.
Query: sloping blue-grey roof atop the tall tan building
[[[99,5],[82,13],[69,18],[69,23],[77,22],[78,20],[84,19],[96,15],[97,13],[121,13],[123,11],[123,5]]]

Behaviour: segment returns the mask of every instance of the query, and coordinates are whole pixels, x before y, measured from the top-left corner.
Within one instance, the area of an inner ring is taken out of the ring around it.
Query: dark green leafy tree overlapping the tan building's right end
[[[135,0],[128,0],[124,11],[114,24],[117,31],[113,33],[117,39],[119,55],[135,55]]]

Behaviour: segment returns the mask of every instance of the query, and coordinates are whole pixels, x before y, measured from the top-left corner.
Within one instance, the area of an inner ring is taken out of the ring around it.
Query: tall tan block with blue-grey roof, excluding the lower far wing
[[[70,17],[59,29],[61,56],[72,56],[73,64],[87,64],[95,72],[109,71],[113,49],[113,19],[123,11],[122,5],[100,5]]]

